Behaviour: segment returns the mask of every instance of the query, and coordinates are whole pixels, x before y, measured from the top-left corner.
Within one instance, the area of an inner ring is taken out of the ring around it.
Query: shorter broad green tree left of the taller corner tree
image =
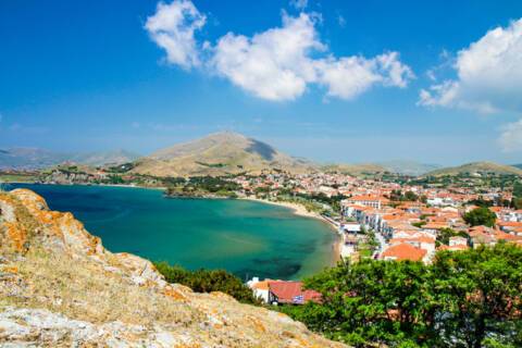
[[[427,269],[418,262],[341,262],[307,279],[322,302],[288,314],[311,330],[356,346],[423,341],[433,318]]]

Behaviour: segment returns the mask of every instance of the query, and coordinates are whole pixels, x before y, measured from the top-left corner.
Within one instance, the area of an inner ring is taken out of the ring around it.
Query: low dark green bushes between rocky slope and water
[[[169,283],[183,284],[196,293],[222,291],[245,303],[259,303],[241,279],[224,270],[188,271],[166,262],[154,263]]]

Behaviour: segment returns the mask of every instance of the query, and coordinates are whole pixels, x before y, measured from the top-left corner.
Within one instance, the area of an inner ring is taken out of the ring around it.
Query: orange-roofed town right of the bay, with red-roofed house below
[[[338,232],[341,259],[428,264],[440,250],[459,251],[498,243],[522,246],[520,183],[515,181],[511,189],[470,185],[485,177],[488,175],[473,173],[447,186],[324,173],[293,177],[271,174],[234,181],[241,185],[241,195],[263,192],[264,199],[283,203],[296,204],[298,197],[307,196],[337,198],[338,211],[323,203],[314,215]],[[302,290],[301,282],[253,278],[248,285],[266,303],[301,304],[319,298],[313,290]]]

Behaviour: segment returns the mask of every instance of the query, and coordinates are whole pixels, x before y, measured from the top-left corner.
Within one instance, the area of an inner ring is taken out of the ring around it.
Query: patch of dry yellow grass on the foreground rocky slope
[[[86,259],[29,250],[15,263],[28,281],[27,297],[12,299],[18,306],[45,308],[92,323],[121,321],[151,326],[154,323],[190,325],[201,313],[184,302],[138,287],[119,274]]]

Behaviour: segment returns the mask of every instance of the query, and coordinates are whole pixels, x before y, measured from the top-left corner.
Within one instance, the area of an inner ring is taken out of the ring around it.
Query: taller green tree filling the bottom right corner
[[[502,243],[439,252],[432,272],[445,345],[480,348],[486,337],[489,343],[522,345],[521,248]]]

